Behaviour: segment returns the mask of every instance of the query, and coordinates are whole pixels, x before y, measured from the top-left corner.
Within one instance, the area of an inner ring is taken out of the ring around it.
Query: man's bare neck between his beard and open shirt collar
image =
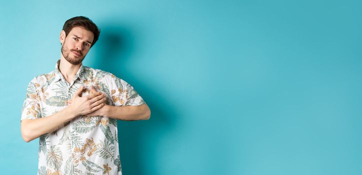
[[[65,80],[70,82],[75,77],[75,74],[79,70],[80,65],[81,63],[73,65],[69,63],[63,56],[61,56],[58,68]]]

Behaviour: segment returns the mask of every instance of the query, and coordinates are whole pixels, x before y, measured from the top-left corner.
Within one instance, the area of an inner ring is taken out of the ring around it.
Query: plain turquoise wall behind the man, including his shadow
[[[84,65],[151,109],[118,121],[124,174],[362,174],[358,0],[0,2],[1,174],[36,174],[20,135],[32,77],[53,69],[64,21],[100,28]]]

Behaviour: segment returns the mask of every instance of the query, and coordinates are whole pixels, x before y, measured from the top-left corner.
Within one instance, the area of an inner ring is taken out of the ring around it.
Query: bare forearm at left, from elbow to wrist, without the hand
[[[67,107],[46,117],[23,119],[20,126],[21,136],[26,142],[29,142],[43,134],[58,129],[75,116],[76,114],[72,112],[70,107]]]

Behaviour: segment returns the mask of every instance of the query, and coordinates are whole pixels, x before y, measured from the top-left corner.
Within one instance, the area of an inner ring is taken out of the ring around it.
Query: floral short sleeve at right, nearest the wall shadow
[[[115,106],[145,104],[143,98],[123,79],[111,74],[110,94]]]

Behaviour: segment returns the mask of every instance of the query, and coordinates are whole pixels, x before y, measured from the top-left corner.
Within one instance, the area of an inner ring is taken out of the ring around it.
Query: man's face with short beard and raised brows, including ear
[[[81,63],[88,53],[93,41],[93,33],[82,27],[73,27],[65,37],[65,32],[60,33],[61,54],[71,64]]]

